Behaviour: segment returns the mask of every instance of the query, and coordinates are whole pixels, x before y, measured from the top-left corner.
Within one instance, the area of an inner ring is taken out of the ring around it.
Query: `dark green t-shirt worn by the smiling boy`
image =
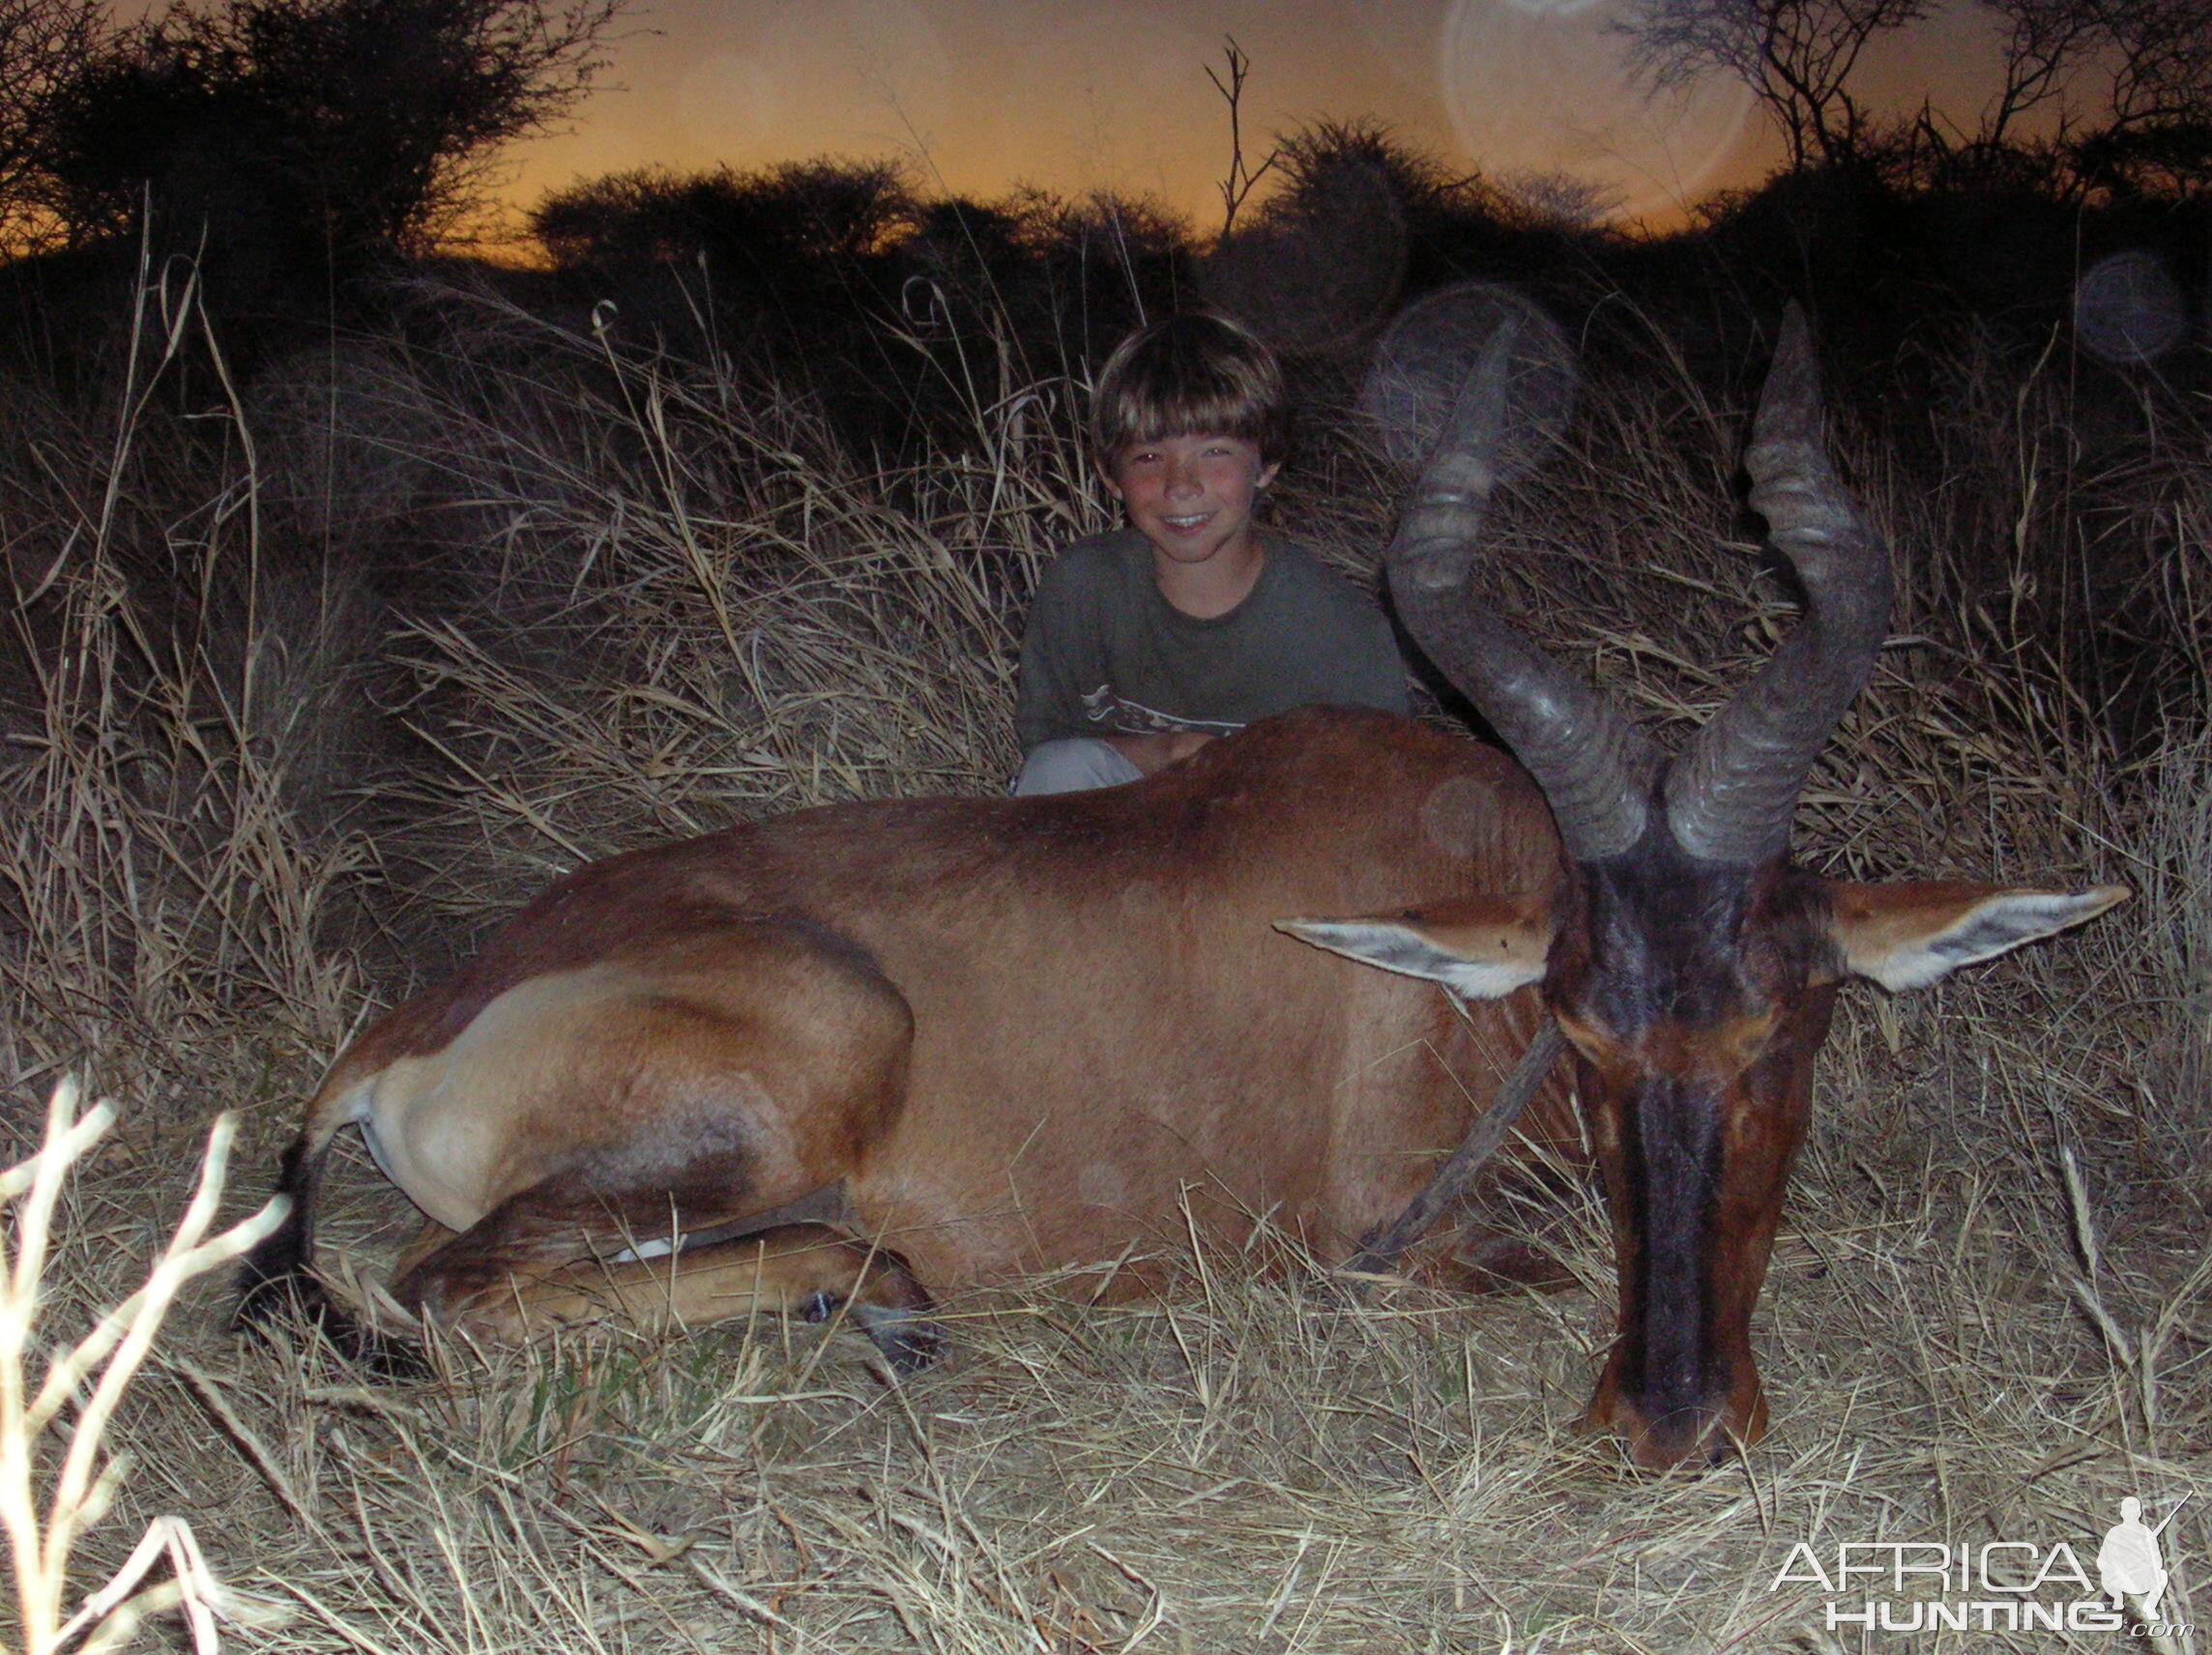
[[[1312,553],[1274,535],[1261,547],[1250,595],[1210,620],[1159,595],[1152,547],[1135,529],[1060,553],[1022,633],[1022,750],[1082,735],[1228,735],[1316,704],[1405,712],[1405,664],[1383,613]]]

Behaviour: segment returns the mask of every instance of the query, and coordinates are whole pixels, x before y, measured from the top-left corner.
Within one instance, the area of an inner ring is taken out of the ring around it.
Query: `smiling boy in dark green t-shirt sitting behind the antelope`
[[[1110,788],[1294,706],[1407,710],[1389,622],[1252,509],[1283,465],[1274,354],[1225,316],[1121,341],[1091,436],[1128,529],[1044,571],[1022,635],[1018,794]]]

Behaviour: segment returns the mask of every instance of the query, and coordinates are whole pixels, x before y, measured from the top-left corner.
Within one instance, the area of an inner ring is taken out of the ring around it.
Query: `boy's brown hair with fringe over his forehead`
[[[1290,449],[1290,394],[1274,352],[1243,323],[1194,310],[1115,345],[1091,396],[1091,443],[1113,465],[1130,443],[1241,436],[1276,465]]]

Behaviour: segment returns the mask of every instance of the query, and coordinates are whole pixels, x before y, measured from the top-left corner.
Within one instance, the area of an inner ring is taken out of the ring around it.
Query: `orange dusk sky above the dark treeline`
[[[615,168],[838,153],[905,157],[927,186],[1152,192],[1219,217],[1221,38],[1252,58],[1248,150],[1367,115],[1449,166],[1562,170],[1670,221],[1774,157],[1741,89],[1652,108],[1608,18],[1628,0],[648,0],[573,133],[518,150],[511,199]],[[1971,7],[1869,66],[1887,102],[1971,108],[1993,49]]]

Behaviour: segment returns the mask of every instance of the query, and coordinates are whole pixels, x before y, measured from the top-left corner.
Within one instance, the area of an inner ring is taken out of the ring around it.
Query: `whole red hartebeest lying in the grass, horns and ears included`
[[[1756,1440],[1750,1314],[1838,982],[1920,987],[2126,892],[1792,865],[1889,613],[1803,319],[1745,465],[1805,615],[1674,759],[1467,600],[1504,374],[1493,350],[1460,396],[1389,582],[1520,768],[1305,710],[1106,792],[836,805],[582,867],[336,1062],[248,1310],[305,1270],[316,1173],[358,1124],[434,1221],[398,1299],[447,1325],[849,1301],[918,1361],[925,1286],[1104,1261],[1126,1292],[1146,1274],[1115,1261],[1181,1241],[1186,1208],[1347,1257],[1548,1009],[1619,1263],[1588,1418],[1646,1467]],[[1524,1131],[1577,1144],[1568,1086]],[[1427,1268],[1453,1257],[1489,1263]]]

